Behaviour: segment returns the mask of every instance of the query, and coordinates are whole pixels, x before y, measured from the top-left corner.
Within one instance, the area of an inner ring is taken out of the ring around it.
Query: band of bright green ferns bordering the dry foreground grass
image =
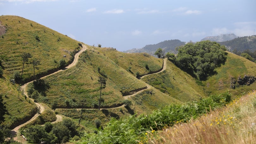
[[[229,93],[212,95],[186,104],[169,105],[149,115],[130,116],[119,120],[111,119],[107,126],[96,133],[85,134],[77,143],[137,143],[147,139],[146,133],[152,130],[173,126],[189,121],[207,111],[226,105],[231,100]]]

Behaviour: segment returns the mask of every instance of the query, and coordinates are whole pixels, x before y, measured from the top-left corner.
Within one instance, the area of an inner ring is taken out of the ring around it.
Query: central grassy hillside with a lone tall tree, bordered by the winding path
[[[103,107],[121,105],[123,95],[146,88],[145,83],[103,53],[90,48],[82,53],[76,67],[46,78],[50,83],[46,92],[49,103],[54,107],[97,107],[100,92],[98,77],[101,75],[107,77],[106,88],[102,91],[105,99]]]

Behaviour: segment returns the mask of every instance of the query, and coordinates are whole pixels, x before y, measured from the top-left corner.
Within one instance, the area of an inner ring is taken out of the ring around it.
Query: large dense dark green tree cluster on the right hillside
[[[187,43],[177,50],[176,56],[168,52],[166,57],[200,80],[214,74],[214,69],[226,61],[225,46],[209,40]]]

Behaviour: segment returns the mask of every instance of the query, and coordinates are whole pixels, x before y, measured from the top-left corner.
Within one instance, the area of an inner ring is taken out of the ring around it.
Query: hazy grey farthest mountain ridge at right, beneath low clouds
[[[237,36],[234,33],[231,33],[231,34],[221,34],[218,36],[205,37],[204,39],[201,39],[201,41],[210,40],[210,41],[222,42],[222,41],[232,40],[235,38],[237,38]]]

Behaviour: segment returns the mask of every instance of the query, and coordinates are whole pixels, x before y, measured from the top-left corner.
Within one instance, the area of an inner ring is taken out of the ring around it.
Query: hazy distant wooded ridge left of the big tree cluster
[[[165,52],[175,51],[175,48],[177,46],[181,46],[185,44],[186,42],[182,42],[179,39],[165,40],[158,44],[146,45],[141,49],[131,49],[123,52],[126,52],[126,53],[147,52],[149,54],[154,54],[156,49],[158,48],[162,48]]]

